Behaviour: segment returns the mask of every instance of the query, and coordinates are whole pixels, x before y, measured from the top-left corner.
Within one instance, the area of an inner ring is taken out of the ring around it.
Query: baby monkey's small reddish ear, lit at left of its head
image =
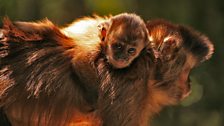
[[[109,22],[103,22],[98,25],[98,29],[100,31],[99,36],[100,36],[101,41],[105,40],[105,38],[107,36],[108,29],[109,29],[109,25],[110,25]]]

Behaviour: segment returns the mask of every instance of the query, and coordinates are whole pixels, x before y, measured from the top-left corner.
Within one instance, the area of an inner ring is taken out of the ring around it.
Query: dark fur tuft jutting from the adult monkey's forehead
[[[197,58],[198,63],[211,58],[214,52],[214,46],[207,36],[190,27],[179,25],[178,28],[183,37],[184,48]]]

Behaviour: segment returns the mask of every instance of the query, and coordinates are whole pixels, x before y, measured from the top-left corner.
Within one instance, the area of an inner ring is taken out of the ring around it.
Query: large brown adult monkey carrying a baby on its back
[[[190,70],[212,54],[205,36],[151,21],[156,62],[149,46],[129,67],[114,69],[101,52],[97,26],[104,21],[84,18],[59,29],[49,21],[6,20],[0,105],[13,126],[146,126],[189,93]]]

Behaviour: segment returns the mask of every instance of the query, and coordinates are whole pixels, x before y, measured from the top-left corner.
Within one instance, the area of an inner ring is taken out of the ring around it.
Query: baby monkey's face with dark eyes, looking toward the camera
[[[117,69],[128,67],[145,47],[145,41],[148,39],[141,28],[114,28],[106,38],[108,62]]]

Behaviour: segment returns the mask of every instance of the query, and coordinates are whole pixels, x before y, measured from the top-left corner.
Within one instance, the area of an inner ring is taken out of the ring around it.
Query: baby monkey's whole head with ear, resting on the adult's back
[[[99,25],[103,52],[115,68],[128,67],[149,44],[144,21],[135,14],[122,13]]]

